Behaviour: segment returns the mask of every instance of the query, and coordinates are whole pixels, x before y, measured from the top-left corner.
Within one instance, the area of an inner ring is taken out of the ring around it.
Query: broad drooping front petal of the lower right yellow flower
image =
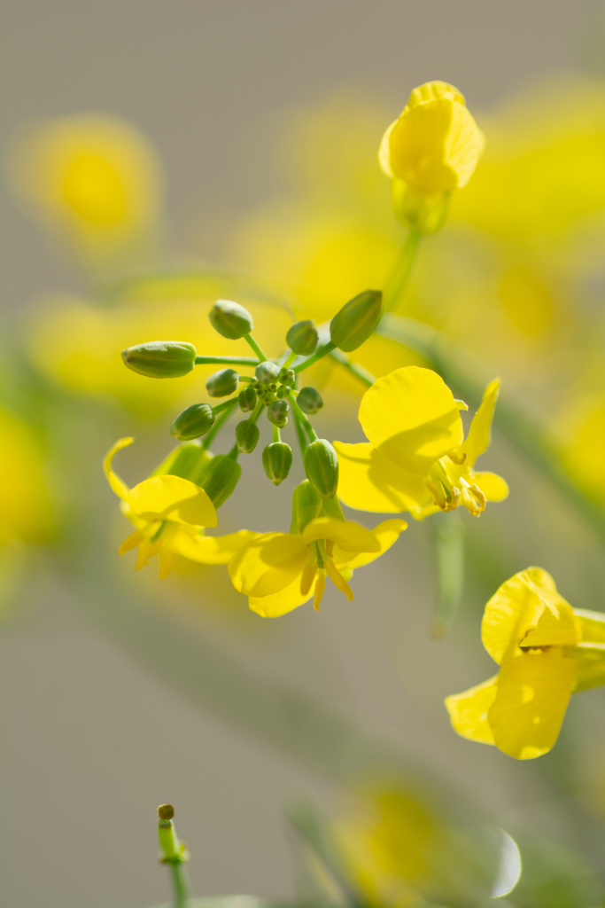
[[[495,745],[517,760],[548,753],[570,702],[577,662],[561,650],[530,650],[503,662],[488,712]]]

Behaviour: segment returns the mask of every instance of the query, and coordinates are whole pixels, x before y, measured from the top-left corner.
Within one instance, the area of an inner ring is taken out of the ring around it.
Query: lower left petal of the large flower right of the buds
[[[334,442],[338,456],[338,498],[348,508],[415,517],[431,500],[424,479],[397,467],[367,442],[348,445]]]

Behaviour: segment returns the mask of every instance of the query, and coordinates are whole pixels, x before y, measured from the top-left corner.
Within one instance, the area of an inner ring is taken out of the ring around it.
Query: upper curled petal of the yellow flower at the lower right
[[[509,646],[517,646],[526,631],[538,624],[546,603],[565,600],[542,568],[527,568],[496,590],[485,606],[481,625],[483,646],[500,665]]]

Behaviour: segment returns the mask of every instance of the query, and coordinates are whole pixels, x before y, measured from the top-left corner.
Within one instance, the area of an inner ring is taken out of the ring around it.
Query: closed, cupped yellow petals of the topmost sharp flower
[[[427,82],[415,88],[401,116],[386,130],[378,157],[387,176],[434,195],[469,182],[483,144],[464,95],[454,85]]]

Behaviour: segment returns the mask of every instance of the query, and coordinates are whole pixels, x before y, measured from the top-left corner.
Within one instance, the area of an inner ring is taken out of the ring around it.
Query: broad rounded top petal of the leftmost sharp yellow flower
[[[194,527],[216,527],[217,512],[208,493],[181,476],[152,476],[128,493],[132,511],[146,520],[174,520]]]

